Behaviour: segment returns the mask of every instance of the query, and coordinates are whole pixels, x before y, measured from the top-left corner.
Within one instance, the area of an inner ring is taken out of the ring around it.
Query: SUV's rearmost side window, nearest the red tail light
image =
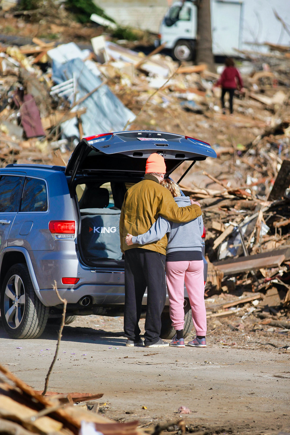
[[[20,211],[47,211],[47,186],[39,178],[26,177]]]

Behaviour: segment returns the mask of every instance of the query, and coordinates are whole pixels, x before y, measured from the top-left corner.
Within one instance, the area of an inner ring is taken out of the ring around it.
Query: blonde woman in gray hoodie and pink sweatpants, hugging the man
[[[170,178],[160,182],[177,202],[178,207],[190,205],[190,197],[181,196],[179,186]],[[169,296],[169,312],[176,335],[170,343],[173,347],[185,347],[183,339],[184,325],[184,283],[189,297],[193,324],[197,336],[187,345],[207,347],[207,316],[204,304],[204,279],[202,241],[203,219],[198,217],[185,224],[176,224],[159,217],[147,233],[133,237],[128,234],[126,243],[147,244],[160,240],[167,234],[166,282]]]

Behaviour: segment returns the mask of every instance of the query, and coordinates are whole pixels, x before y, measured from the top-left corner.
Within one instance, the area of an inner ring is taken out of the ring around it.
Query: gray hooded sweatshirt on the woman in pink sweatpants
[[[174,198],[178,207],[190,205],[190,197],[178,196]],[[132,237],[135,244],[153,243],[163,238],[167,233],[168,244],[166,254],[174,251],[200,251],[202,248],[201,236],[203,234],[203,218],[199,216],[193,221],[184,224],[175,224],[161,216],[154,222],[147,233]]]

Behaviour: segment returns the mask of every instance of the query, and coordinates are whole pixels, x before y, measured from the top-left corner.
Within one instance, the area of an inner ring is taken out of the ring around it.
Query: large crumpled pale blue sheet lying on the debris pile
[[[53,63],[52,79],[57,84],[69,80],[73,77],[73,74],[77,80],[75,101],[102,83],[102,79],[96,77],[79,58],[69,60],[62,65]],[[70,102],[73,104],[74,101]],[[135,119],[133,112],[123,105],[106,84],[101,86],[90,97],[87,97],[83,103],[74,107],[72,111],[76,111],[81,107],[87,108],[87,112],[81,115],[84,136],[122,131],[128,120],[132,122]],[[80,139],[77,118],[63,122],[61,128],[63,137],[72,138],[73,143],[77,145]]]

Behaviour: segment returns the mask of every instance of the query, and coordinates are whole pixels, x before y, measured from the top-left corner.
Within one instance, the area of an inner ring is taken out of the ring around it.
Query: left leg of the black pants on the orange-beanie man
[[[124,333],[130,340],[140,339],[140,320],[142,299],[147,281],[143,270],[143,253],[141,248],[125,252],[125,306]]]

